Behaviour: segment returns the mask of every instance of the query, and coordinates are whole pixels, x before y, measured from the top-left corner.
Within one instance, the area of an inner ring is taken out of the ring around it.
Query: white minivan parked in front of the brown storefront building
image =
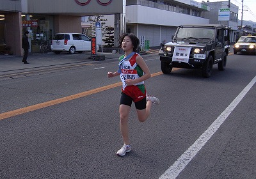
[[[91,51],[91,39],[80,33],[57,33],[52,40],[51,50],[55,54],[60,54],[61,51],[67,51],[69,54]]]

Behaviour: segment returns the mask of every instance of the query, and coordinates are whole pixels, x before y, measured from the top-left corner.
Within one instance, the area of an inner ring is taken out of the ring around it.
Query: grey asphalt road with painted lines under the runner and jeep
[[[231,54],[209,79],[143,58],[160,104],[145,123],[132,105],[124,157],[114,59],[1,80],[0,178],[255,178],[255,56]]]

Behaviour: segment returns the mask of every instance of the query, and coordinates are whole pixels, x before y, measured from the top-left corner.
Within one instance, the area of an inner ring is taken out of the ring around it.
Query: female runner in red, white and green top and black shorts
[[[122,93],[119,105],[120,131],[124,140],[124,146],[116,155],[124,156],[131,151],[129,142],[128,118],[132,101],[135,104],[138,120],[144,122],[150,115],[152,104],[159,104],[159,99],[147,95],[144,81],[151,77],[148,66],[140,54],[136,53],[140,40],[132,33],[120,36],[119,48],[124,55],[119,58],[119,69],[117,72],[108,72],[108,77],[120,75],[122,81]]]

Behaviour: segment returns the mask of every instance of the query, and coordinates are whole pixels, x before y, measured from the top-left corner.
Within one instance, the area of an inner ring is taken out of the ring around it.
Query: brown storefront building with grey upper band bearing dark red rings
[[[120,14],[120,0],[0,0],[0,46],[22,55],[24,31],[31,34],[30,52],[39,51],[42,40],[54,33],[82,33],[81,17]]]

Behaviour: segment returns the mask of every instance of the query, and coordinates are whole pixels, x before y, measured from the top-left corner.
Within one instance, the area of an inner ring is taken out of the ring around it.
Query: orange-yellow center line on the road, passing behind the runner
[[[152,74],[152,77],[155,77],[155,76],[161,75],[161,74],[163,74],[163,73],[162,72],[157,72],[155,74]],[[16,109],[16,110],[13,110],[13,111],[8,111],[6,113],[1,113],[0,114],[0,120],[4,120],[6,118],[10,118],[10,117],[17,116],[17,115],[20,115],[20,114],[28,113],[28,112],[31,112],[31,111],[35,111],[37,109],[42,109],[44,107],[49,107],[51,105],[56,105],[56,104],[60,104],[60,103],[63,103],[63,102],[68,102],[70,100],[74,100],[74,99],[77,99],[77,98],[86,97],[88,95],[99,93],[101,91],[106,91],[107,89],[116,88],[118,86],[122,86],[122,82],[116,82],[114,84],[109,84],[107,86],[102,86],[100,88],[91,89],[89,91],[84,91],[82,93],[77,93],[75,95],[70,95],[68,97],[58,98],[56,100],[50,100],[50,101],[43,102],[43,103],[40,103],[40,104],[30,105],[28,107],[23,107],[23,108]]]

